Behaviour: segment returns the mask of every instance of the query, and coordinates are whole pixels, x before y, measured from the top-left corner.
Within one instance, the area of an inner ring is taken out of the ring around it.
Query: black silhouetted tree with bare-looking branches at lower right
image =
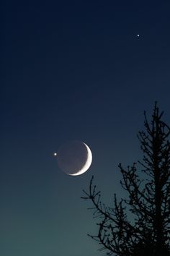
[[[128,192],[127,199],[110,208],[101,202],[101,192],[89,184],[85,200],[91,200],[94,217],[99,218],[99,232],[92,239],[107,249],[107,255],[170,256],[170,128],[162,121],[155,103],[151,123],[145,116],[144,132],[138,133],[143,161],[127,169],[119,164],[120,184]],[[140,171],[137,170],[140,166]],[[140,172],[146,179],[140,179]],[[133,221],[128,220],[128,210]]]

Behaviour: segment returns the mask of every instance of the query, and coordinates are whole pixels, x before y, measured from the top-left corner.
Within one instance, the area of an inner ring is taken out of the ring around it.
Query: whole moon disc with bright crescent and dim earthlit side
[[[90,148],[79,140],[70,140],[61,145],[56,157],[59,168],[71,176],[84,174],[92,162]]]

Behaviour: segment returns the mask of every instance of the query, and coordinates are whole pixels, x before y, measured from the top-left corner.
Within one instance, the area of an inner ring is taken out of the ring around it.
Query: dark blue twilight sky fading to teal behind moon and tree
[[[169,1],[4,1],[1,26],[1,256],[99,256],[81,200],[91,176],[112,205],[154,101],[170,123]],[[139,36],[138,36],[139,35]],[[68,176],[53,153],[91,148]]]

